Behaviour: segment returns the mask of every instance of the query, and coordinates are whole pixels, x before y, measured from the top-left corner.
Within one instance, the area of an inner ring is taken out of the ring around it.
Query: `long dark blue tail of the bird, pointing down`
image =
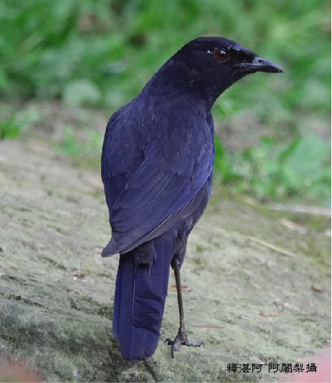
[[[136,249],[120,255],[113,334],[122,356],[132,361],[151,357],[160,337],[173,247],[173,239],[161,237],[151,243],[155,253],[152,265],[136,265]]]

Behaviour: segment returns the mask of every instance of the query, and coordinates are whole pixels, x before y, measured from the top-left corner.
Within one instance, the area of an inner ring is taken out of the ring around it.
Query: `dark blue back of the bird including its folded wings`
[[[102,179],[112,239],[104,256],[125,253],[164,233],[212,172],[211,114],[189,97],[141,93],[112,116]]]

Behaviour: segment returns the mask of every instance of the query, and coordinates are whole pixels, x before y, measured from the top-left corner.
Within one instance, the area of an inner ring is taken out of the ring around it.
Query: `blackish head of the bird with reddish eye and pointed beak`
[[[201,94],[210,104],[236,81],[255,72],[280,73],[283,69],[236,42],[219,37],[188,42],[159,70],[173,86]]]

